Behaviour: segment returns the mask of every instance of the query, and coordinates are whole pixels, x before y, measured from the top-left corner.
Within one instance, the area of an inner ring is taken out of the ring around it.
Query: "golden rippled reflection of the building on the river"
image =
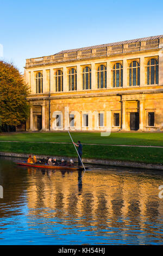
[[[145,230],[148,239],[156,231],[151,223],[162,225],[160,173],[92,170],[82,178],[82,172],[30,168],[28,179],[28,216],[50,218],[52,224],[57,221],[82,230],[89,227],[102,236],[118,230],[119,239],[124,240],[129,232],[139,239]],[[161,233],[157,237],[162,241]]]

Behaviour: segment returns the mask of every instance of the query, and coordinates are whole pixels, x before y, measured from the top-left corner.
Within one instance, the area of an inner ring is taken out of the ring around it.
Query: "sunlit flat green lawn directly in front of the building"
[[[163,146],[163,133],[111,133],[108,137],[102,137],[100,132],[71,132],[75,142],[95,144],[116,145],[155,145]],[[0,141],[20,142],[71,142],[67,132],[45,132],[45,133],[17,133],[11,135],[0,135]]]

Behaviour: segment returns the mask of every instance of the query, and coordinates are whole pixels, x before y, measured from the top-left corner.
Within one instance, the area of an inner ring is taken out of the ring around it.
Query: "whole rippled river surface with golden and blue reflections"
[[[93,167],[82,178],[12,160],[0,157],[0,245],[163,245],[163,172]]]

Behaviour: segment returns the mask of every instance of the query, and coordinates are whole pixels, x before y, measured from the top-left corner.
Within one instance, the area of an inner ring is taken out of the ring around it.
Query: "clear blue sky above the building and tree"
[[[0,58],[21,72],[26,58],[163,34],[162,0],[0,0],[0,10]]]

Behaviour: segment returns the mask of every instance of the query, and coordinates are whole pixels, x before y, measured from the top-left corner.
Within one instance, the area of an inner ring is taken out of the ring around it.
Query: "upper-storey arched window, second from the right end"
[[[140,65],[135,60],[129,66],[129,86],[140,86]]]

